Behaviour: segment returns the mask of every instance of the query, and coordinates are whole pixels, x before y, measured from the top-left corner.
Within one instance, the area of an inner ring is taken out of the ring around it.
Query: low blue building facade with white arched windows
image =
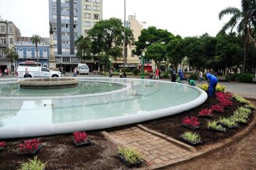
[[[19,65],[21,62],[37,62],[37,51],[35,44],[32,42],[15,42],[15,50],[19,55],[16,65]],[[39,43],[37,50],[38,62],[43,67],[48,67],[48,60],[50,58],[49,43]]]

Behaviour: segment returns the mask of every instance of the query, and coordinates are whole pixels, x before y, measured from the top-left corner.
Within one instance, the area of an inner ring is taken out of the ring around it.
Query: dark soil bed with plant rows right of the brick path
[[[218,120],[220,116],[231,116],[233,115],[233,112],[238,108],[238,106],[243,106],[237,101],[233,100],[233,106],[228,109],[224,109],[223,113],[213,113],[213,116],[211,118],[202,118],[199,117],[198,120],[200,122],[200,127],[195,130],[191,130],[186,127],[182,127],[180,123],[182,122],[182,119],[185,116],[197,116],[199,111],[201,111],[203,108],[211,108],[212,105],[217,105],[219,102],[216,98],[208,98],[201,106],[198,106],[197,108],[194,108],[189,111],[184,111],[183,113],[179,113],[177,115],[168,116],[165,118],[160,118],[158,120],[153,120],[149,122],[144,122],[142,125],[145,127],[148,127],[149,129],[156,130],[157,132],[163,133],[165,135],[168,135],[170,137],[173,137],[174,139],[182,141],[180,139],[180,135],[183,134],[186,131],[190,132],[197,132],[202,138],[202,144],[198,145],[197,147],[200,148],[204,145],[208,144],[214,144],[219,140],[226,139],[229,137],[232,137],[235,135],[235,133],[241,131],[243,128],[247,127],[247,125],[239,124],[239,127],[236,129],[230,129],[226,128],[226,133],[220,133],[220,132],[212,132],[211,130],[207,130],[207,120]],[[252,118],[250,116],[250,120],[247,122],[250,123],[252,121]],[[183,142],[183,141],[182,141]]]

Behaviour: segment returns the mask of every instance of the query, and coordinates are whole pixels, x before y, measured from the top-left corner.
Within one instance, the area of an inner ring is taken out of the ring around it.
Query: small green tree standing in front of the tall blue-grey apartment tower
[[[81,58],[81,62],[84,63],[86,58],[91,57],[91,38],[83,37],[81,35],[78,40],[74,42],[78,52],[76,54],[77,57]]]

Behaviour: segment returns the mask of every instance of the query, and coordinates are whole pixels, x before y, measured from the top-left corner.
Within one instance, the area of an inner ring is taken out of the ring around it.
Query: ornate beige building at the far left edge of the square
[[[6,48],[15,47],[20,30],[12,21],[3,20],[0,16],[0,69],[3,72],[6,67],[11,68],[11,62],[6,58]],[[12,68],[14,71],[14,68]]]

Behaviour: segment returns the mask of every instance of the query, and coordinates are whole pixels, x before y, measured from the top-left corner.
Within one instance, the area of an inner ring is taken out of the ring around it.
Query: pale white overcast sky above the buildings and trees
[[[229,17],[219,21],[218,13],[228,6],[240,8],[240,0],[126,0],[126,16],[136,14],[156,26],[182,37],[209,33],[214,36]],[[0,0],[0,16],[13,21],[22,36],[49,37],[48,0]],[[124,20],[124,0],[103,0],[103,19]]]

